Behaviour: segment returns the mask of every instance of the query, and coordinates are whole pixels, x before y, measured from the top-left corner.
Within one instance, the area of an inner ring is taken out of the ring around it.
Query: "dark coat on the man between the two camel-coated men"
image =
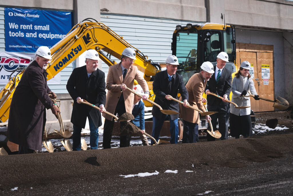
[[[162,109],[168,109],[179,112],[179,103],[173,100],[165,99],[167,94],[171,95],[173,98],[178,99],[178,90],[182,96],[182,100],[188,100],[188,92],[185,88],[183,82],[183,77],[178,73],[175,73],[172,77],[172,80],[169,82],[167,70],[156,73],[154,82],[153,82],[153,91],[156,95],[155,103],[159,104]],[[160,119],[163,116],[163,113],[156,106],[153,106],[151,114],[156,118]],[[179,114],[172,114],[171,119],[177,119]]]

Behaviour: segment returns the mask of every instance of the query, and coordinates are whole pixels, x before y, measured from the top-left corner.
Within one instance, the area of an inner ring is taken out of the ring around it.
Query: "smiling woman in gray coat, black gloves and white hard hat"
[[[243,97],[248,94],[248,90],[251,94],[254,94],[255,100],[259,100],[259,96],[254,88],[253,80],[249,74],[250,63],[243,61],[240,65],[239,71],[235,74],[232,81],[232,102],[238,106],[250,106],[249,97]],[[245,109],[237,109],[233,104],[230,104],[230,135],[239,138],[243,135],[244,138],[248,138],[252,135],[252,126],[250,119],[250,107]]]

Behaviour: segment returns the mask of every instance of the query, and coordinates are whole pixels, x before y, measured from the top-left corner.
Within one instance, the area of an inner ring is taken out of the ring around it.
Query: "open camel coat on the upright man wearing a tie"
[[[132,113],[132,106],[134,102],[134,94],[128,90],[121,90],[121,85],[125,84],[128,88],[133,89],[134,80],[137,80],[138,84],[145,91],[149,91],[149,87],[147,82],[144,80],[143,73],[137,69],[137,66],[132,65],[131,68],[127,70],[123,81],[121,62],[112,65],[109,67],[109,72],[106,80],[106,89],[108,89],[106,95],[106,111],[114,114],[117,103],[121,94],[123,93],[125,109],[130,114]],[[113,117],[103,113],[105,119],[112,121]]]

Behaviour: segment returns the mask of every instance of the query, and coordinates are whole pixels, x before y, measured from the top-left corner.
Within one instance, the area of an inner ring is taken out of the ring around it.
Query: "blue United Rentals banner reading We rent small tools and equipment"
[[[71,28],[71,12],[5,8],[7,52],[34,53],[42,45],[51,48]]]

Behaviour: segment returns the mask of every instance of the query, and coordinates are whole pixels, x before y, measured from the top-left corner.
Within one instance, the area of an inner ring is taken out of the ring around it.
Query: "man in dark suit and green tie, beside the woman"
[[[228,139],[228,124],[230,105],[226,100],[230,100],[229,95],[231,92],[232,72],[225,68],[228,62],[228,54],[220,52],[217,55],[217,65],[214,66],[215,76],[212,77],[205,88],[205,93],[213,92],[224,99],[219,99],[213,95],[207,95],[207,109],[208,111],[217,111],[218,113],[212,114],[213,130],[217,130],[217,120],[219,121],[219,132],[222,134],[221,140]],[[208,125],[208,129],[210,129]],[[207,134],[207,141],[214,141],[215,138]]]

